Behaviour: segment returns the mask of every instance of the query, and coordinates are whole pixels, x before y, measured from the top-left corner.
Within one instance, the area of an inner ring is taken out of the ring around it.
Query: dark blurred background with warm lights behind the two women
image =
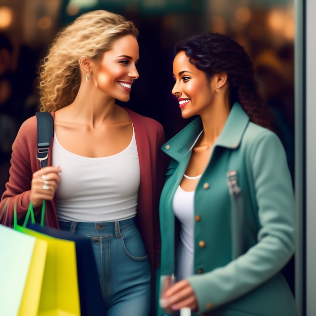
[[[294,0],[0,0],[0,195],[9,178],[11,145],[38,109],[37,66],[56,32],[80,14],[109,10],[132,20],[140,35],[140,78],[130,109],[161,122],[166,138],[181,118],[173,86],[174,44],[221,32],[242,44],[254,65],[273,127],[287,152],[294,185]],[[78,140],[79,141],[79,140]],[[293,260],[285,268],[294,292]]]

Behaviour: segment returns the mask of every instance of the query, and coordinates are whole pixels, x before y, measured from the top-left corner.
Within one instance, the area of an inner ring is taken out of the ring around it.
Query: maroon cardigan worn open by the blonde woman
[[[140,165],[140,186],[136,222],[149,256],[152,276],[154,268],[160,267],[159,198],[164,182],[167,156],[160,149],[165,141],[162,125],[150,118],[125,109],[133,122]],[[54,117],[54,113],[52,113]],[[52,143],[50,145],[50,148]],[[13,225],[13,205],[17,202],[17,213],[27,212],[32,175],[40,169],[36,158],[36,117],[26,120],[12,145],[10,178],[0,202],[0,223]],[[51,166],[51,150],[48,156]],[[6,209],[5,204],[8,201]],[[59,228],[55,203],[46,202],[45,224]],[[154,277],[153,277],[154,283]]]

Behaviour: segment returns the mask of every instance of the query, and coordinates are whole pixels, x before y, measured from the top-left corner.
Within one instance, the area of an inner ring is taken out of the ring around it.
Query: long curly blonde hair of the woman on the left
[[[105,10],[82,14],[62,29],[40,62],[40,111],[57,111],[73,102],[81,82],[81,56],[98,61],[115,40],[138,33],[133,22]]]

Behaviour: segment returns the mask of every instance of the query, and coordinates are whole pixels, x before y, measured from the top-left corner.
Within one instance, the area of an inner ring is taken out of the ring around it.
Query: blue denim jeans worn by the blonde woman
[[[91,238],[107,316],[150,315],[150,265],[134,219],[59,224],[61,230]]]

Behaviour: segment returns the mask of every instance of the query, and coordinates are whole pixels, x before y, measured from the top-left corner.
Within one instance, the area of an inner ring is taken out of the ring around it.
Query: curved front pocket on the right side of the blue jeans
[[[148,259],[144,243],[136,225],[129,225],[121,230],[122,247],[125,254],[135,261]]]

